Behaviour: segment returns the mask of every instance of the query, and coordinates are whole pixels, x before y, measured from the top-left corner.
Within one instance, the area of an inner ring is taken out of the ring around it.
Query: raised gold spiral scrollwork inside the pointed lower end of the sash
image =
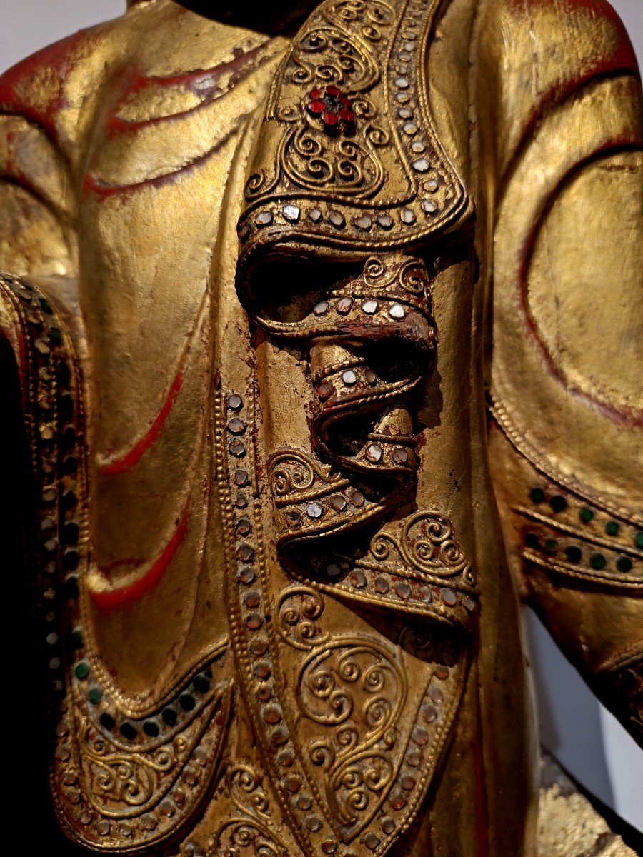
[[[368,822],[393,782],[406,673],[383,639],[328,637],[319,624],[323,609],[318,592],[291,587],[279,602],[279,630],[307,652],[295,696],[301,714],[321,730],[304,752],[324,772],[334,818],[352,829]]]

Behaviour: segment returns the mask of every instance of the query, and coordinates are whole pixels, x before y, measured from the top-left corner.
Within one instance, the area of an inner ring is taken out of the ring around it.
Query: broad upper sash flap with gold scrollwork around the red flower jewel
[[[294,236],[400,246],[464,210],[466,193],[436,138],[424,90],[437,5],[327,0],[310,16],[259,131],[239,221],[246,251]],[[306,111],[310,87],[329,85],[352,102],[350,131],[328,133]]]

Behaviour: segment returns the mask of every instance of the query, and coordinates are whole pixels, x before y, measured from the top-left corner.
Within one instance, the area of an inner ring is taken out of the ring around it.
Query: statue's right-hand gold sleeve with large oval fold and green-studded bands
[[[489,3],[489,455],[526,602],[643,738],[641,87],[603,0]]]

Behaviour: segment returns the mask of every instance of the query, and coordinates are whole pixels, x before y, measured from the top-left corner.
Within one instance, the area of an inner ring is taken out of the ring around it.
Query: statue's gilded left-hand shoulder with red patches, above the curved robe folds
[[[268,39],[238,27],[209,21],[171,0],[134,4],[124,15],[89,27],[37,51],[0,75],[0,111],[38,125],[63,149],[73,149],[93,125],[102,101],[115,87],[136,85],[137,75],[159,76],[181,85],[181,75],[212,69],[219,62],[246,65],[249,51],[282,39]],[[150,91],[150,98],[158,99]],[[142,95],[145,100],[145,93]]]

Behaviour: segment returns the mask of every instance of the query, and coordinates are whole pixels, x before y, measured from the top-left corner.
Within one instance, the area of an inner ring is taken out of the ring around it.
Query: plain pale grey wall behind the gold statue
[[[612,0],[643,68],[643,0]],[[124,0],[0,0],[0,72],[81,27],[120,15]],[[596,701],[527,611],[545,746],[608,806],[643,830],[643,753]]]

